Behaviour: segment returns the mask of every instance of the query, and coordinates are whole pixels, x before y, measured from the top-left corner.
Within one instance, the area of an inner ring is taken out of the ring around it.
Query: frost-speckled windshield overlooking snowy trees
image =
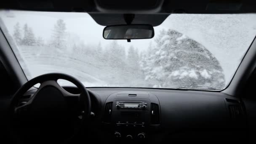
[[[0,27],[28,80],[61,72],[86,87],[221,90],[256,35],[256,14],[171,14],[154,38],[131,43],[105,40],[88,13],[0,11]]]

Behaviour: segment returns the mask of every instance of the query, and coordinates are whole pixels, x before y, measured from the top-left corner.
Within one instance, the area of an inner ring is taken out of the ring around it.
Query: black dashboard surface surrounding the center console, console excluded
[[[79,93],[75,87],[64,87],[64,89],[70,93]],[[26,94],[33,94],[35,91],[36,89]],[[221,139],[225,138],[229,141],[228,135],[239,135],[242,139],[241,133],[246,129],[242,101],[221,92],[146,88],[88,88],[88,91],[92,99],[92,111],[96,114],[93,121],[96,125],[101,125],[105,103],[113,93],[125,91],[129,94],[149,93],[155,96],[160,105],[161,122],[160,128],[150,137],[156,142],[166,139],[181,141],[181,138],[185,141],[183,138],[190,139],[191,136],[196,138],[199,134],[203,134],[205,139],[208,139],[207,136],[211,139],[222,136]],[[99,125],[94,131],[105,131],[99,128],[101,127]]]

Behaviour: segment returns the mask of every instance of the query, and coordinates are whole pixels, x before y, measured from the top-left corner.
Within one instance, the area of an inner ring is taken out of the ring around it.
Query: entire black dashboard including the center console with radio
[[[63,87],[79,93],[75,87]],[[36,90],[28,91],[31,95]],[[221,92],[143,88],[88,88],[94,141],[244,141],[246,115],[240,99]],[[82,106],[81,106],[82,107]]]

